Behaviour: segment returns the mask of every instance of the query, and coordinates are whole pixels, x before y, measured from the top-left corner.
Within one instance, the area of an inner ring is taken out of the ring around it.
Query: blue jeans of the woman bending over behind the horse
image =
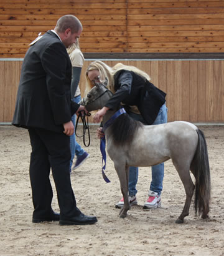
[[[134,120],[140,121],[143,124],[146,124],[143,117],[138,114],[134,114],[133,112],[128,113],[130,117]],[[164,124],[167,122],[167,107],[166,103],[164,103],[159,110],[159,114],[156,117],[156,120],[153,124]],[[152,166],[152,181],[150,185],[150,190],[157,192],[158,195],[161,195],[162,192],[162,182],[164,179],[164,163],[157,164]],[[138,182],[138,167],[130,166],[129,167],[129,195],[136,195],[138,190],[136,189],[136,184]]]

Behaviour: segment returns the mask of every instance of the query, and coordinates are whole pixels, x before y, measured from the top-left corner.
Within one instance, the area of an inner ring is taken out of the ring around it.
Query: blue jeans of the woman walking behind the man
[[[77,97],[73,97],[72,99],[73,102],[80,102],[81,101],[81,96],[78,95]],[[73,122],[73,125],[75,127],[75,122],[76,122],[76,114],[73,114],[72,116],[72,122]],[[70,150],[71,150],[71,159],[70,159],[70,170],[72,169],[72,162],[73,162],[73,159],[75,157],[75,155],[80,156],[82,155],[85,150],[82,149],[82,147],[80,146],[80,144],[78,144],[78,142],[75,140],[75,132],[70,135]]]

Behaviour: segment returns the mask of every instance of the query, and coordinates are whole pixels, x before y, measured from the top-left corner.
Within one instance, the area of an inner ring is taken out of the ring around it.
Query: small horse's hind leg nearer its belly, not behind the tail
[[[184,209],[182,210],[182,213],[178,217],[178,219],[175,221],[177,224],[182,224],[184,222],[184,218],[189,215],[189,209],[190,209],[190,203],[192,201],[192,196],[194,194],[194,183],[192,182],[192,179],[190,177],[190,168],[187,169],[186,167],[179,167],[176,164],[175,168],[177,169],[177,172],[180,176],[180,179],[182,180],[182,183],[184,185],[185,193],[186,193],[186,200],[184,204]]]

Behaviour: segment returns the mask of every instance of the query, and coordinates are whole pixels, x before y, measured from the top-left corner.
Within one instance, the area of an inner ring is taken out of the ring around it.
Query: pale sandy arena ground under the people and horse
[[[25,129],[0,126],[0,255],[224,255],[224,127],[200,127],[210,158],[210,220],[196,217],[192,204],[190,215],[180,225],[175,219],[182,212],[185,192],[170,160],[165,164],[161,209],[142,209],[151,168],[141,168],[138,205],[129,210],[126,219],[119,218],[114,207],[121,197],[119,180],[109,157],[106,175],[111,183],[103,180],[100,141],[96,126],[90,128],[91,145],[86,148],[90,158],[71,178],[78,207],[96,215],[98,223],[60,226],[58,222],[32,224],[29,135]],[[52,205],[58,210],[55,187]]]

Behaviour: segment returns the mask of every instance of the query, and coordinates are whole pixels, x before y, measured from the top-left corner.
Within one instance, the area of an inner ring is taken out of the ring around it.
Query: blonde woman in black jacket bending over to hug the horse
[[[86,70],[88,92],[98,83],[107,84],[114,94],[106,105],[96,112],[93,117],[95,122],[100,122],[108,109],[116,109],[119,104],[126,106],[129,116],[143,124],[163,124],[167,122],[166,93],[158,89],[150,82],[146,72],[134,66],[116,64],[114,67],[106,65],[102,61],[94,61]],[[97,131],[98,137],[103,134],[101,128]],[[149,189],[149,197],[144,208],[156,209],[161,207],[162,182],[164,179],[164,163],[152,166],[152,181]],[[138,182],[138,167],[129,168],[129,203],[137,204],[136,184]],[[121,199],[117,208],[124,205]]]

